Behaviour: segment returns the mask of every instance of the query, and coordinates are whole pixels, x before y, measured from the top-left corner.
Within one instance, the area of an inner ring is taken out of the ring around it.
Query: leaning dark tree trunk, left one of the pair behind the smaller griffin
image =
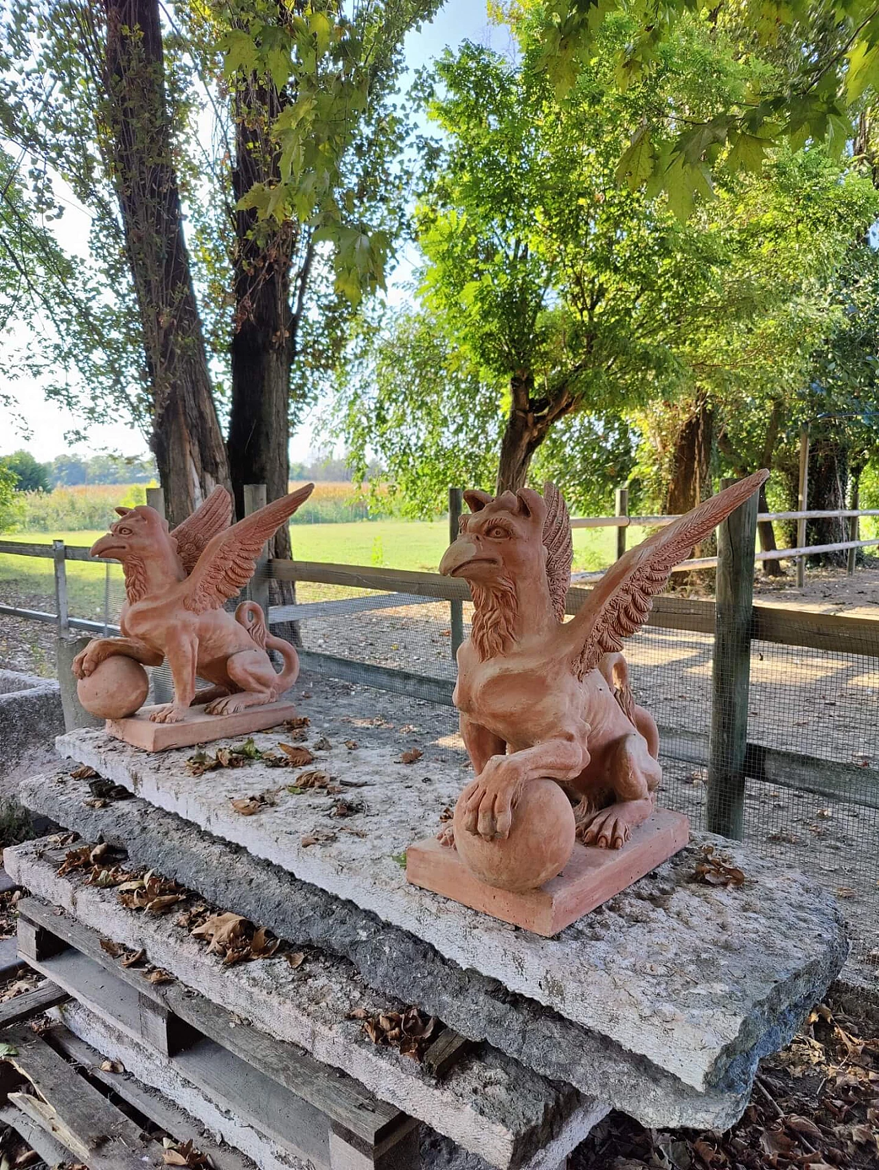
[[[229,486],[172,157],[158,0],[104,0],[111,168],[144,331],[151,447],[177,524]]]

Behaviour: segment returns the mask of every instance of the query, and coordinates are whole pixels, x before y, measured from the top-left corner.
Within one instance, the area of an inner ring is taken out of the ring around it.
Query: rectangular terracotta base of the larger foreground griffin
[[[622,849],[600,849],[577,841],[558,878],[539,889],[513,894],[479,881],[465,868],[457,849],[432,838],[406,851],[406,878],[413,886],[551,938],[649,874],[688,840],[687,818],[658,808],[632,831]]]

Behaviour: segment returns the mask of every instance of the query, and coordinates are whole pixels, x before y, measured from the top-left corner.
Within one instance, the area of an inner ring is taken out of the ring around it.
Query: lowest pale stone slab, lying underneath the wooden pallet
[[[51,1014],[104,1057],[120,1061],[126,1073],[131,1073],[144,1085],[157,1089],[174,1104],[199,1117],[215,1135],[247,1154],[259,1170],[291,1170],[291,1168],[299,1170],[302,1163],[279,1150],[269,1138],[251,1126],[244,1124],[234,1114],[220,1110],[213,1101],[181,1076],[173,1065],[159,1060],[143,1045],[123,1035],[118,1028],[95,1016],[82,1004],[71,1000],[63,1009],[53,1009]],[[487,1162],[424,1126],[421,1136],[421,1165],[423,1170],[486,1170]]]

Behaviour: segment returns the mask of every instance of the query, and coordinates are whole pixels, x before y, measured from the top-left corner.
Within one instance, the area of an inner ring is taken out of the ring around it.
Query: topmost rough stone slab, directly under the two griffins
[[[303,710],[306,710],[303,707]],[[831,895],[796,870],[735,842],[694,838],[687,849],[605,902],[556,938],[540,938],[409,886],[400,866],[407,846],[440,824],[466,778],[461,768],[403,764],[387,746],[359,732],[348,751],[309,741],[316,764],[352,790],[365,808],[339,823],[335,799],[319,790],[291,794],[281,775],[261,762],[247,770],[194,777],[186,751],[145,756],[101,731],[61,736],[61,755],[151,804],[383,921],[423,938],[463,968],[498,979],[568,1019],[646,1057],[687,1085],[721,1090],[741,1083],[754,1053],[774,1051],[838,972],[847,952]],[[277,737],[255,736],[271,749]],[[429,783],[424,783],[427,777]],[[252,817],[231,798],[277,790],[276,804]],[[307,844],[317,838],[318,844]],[[729,848],[747,875],[742,888],[692,881],[700,847]],[[303,844],[305,841],[306,844]]]

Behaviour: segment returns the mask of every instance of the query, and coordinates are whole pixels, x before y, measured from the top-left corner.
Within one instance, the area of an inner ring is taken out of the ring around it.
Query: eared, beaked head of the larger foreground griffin
[[[470,515],[461,517],[458,538],[445,551],[441,573],[487,585],[499,577],[544,569],[547,504],[540,493],[521,488],[490,496],[473,490],[465,491],[464,500]]]

